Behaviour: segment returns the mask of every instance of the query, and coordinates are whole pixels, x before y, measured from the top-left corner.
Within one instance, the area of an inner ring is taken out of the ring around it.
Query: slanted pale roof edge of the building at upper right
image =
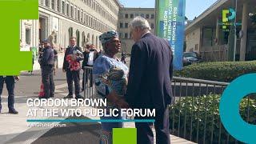
[[[219,6],[222,6],[224,3],[226,3],[228,0],[218,0],[217,2],[214,2],[213,5],[211,5],[208,9],[206,9],[202,14],[198,16],[193,22],[191,22],[188,26],[186,26],[185,30],[189,30],[192,26],[194,26],[197,22],[200,22],[203,18],[205,18],[207,15],[212,13],[214,10],[218,9]]]

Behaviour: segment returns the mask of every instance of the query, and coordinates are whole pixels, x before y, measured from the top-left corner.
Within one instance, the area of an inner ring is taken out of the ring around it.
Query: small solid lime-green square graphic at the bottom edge
[[[137,144],[136,128],[114,128],[113,144]]]

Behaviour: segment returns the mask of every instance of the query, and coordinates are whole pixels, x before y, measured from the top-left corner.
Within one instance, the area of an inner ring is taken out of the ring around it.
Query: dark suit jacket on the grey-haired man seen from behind
[[[171,102],[173,55],[168,42],[145,34],[134,43],[126,101],[132,108],[166,108]]]

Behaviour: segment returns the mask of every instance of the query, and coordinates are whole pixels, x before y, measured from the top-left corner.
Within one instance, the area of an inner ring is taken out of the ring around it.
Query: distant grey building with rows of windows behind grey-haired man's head
[[[137,16],[142,16],[150,22],[151,33],[154,34],[155,16],[154,8],[125,8],[119,10],[118,32],[122,41],[122,51],[130,54],[134,41],[131,39],[129,22]]]

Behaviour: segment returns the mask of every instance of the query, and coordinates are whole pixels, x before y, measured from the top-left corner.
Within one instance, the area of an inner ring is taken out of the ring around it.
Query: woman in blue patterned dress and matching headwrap
[[[93,78],[96,98],[106,98],[107,106],[103,109],[109,114],[113,108],[128,108],[123,98],[126,93],[128,67],[115,57],[121,50],[117,32],[108,31],[100,35],[99,39],[104,52],[94,62]],[[101,119],[122,119],[122,116],[118,113],[118,117],[103,116]],[[122,122],[102,122],[101,143],[112,143],[113,128],[122,128]]]

